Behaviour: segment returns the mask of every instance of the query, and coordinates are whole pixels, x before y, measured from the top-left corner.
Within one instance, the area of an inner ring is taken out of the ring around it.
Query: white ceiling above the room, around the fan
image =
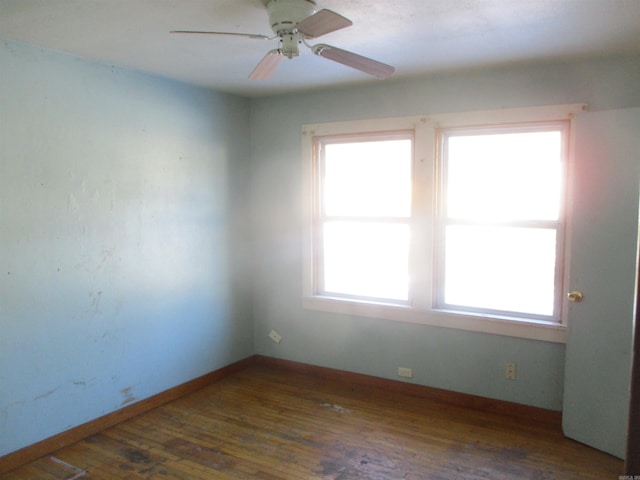
[[[317,0],[351,19],[328,43],[394,65],[393,78],[482,66],[640,54],[640,0]],[[245,96],[379,82],[313,55],[247,79],[277,41],[263,0],[0,0],[0,38]],[[388,81],[388,80],[384,80]]]

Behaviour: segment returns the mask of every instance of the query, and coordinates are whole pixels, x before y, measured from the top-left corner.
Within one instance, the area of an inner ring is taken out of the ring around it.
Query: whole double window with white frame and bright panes
[[[583,108],[306,126],[305,308],[563,342]]]

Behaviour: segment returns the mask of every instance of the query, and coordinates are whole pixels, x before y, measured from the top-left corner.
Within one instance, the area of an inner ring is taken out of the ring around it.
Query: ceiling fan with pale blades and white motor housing
[[[254,33],[196,30],[173,30],[171,33],[233,35],[258,40],[279,38],[279,47],[267,52],[249,75],[251,80],[265,80],[271,77],[285,57],[292,59],[300,55],[300,45],[305,45],[320,57],[355,68],[376,78],[387,78],[395,71],[395,68],[390,65],[331,45],[324,43],[309,45],[307,40],[353,25],[351,20],[332,10],[316,10],[314,0],[265,0],[265,6],[269,14],[269,24],[275,34],[272,37]]]

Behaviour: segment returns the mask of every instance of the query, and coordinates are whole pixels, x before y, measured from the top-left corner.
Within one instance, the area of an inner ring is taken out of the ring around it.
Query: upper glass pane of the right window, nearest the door
[[[447,216],[557,220],[560,131],[447,137]]]

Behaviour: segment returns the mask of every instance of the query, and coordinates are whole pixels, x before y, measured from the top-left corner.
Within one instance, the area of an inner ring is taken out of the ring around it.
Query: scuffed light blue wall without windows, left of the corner
[[[0,71],[1,456],[251,355],[253,324],[248,100],[12,42]]]

